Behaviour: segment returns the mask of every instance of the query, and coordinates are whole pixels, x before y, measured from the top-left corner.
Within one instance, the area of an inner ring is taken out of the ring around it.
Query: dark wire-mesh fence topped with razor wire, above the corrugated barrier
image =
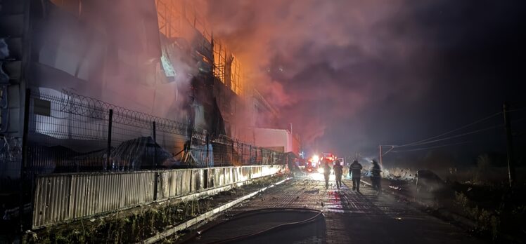
[[[27,169],[37,174],[278,163],[283,154],[68,91],[30,94]]]

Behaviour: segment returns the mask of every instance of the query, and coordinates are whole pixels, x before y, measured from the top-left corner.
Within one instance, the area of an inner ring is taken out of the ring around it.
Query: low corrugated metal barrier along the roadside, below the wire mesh
[[[35,179],[32,227],[164,201],[284,169],[285,165],[252,165],[39,176]]]

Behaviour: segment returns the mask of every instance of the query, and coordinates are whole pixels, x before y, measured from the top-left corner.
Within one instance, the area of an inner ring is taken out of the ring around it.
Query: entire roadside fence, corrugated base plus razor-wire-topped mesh
[[[36,176],[34,228],[272,175],[286,167],[280,164],[283,153],[225,135],[211,138],[185,123],[67,91],[27,94],[24,168],[25,179]],[[217,166],[229,167],[212,168]],[[166,170],[178,167],[186,169]],[[160,168],[165,170],[155,170]]]

